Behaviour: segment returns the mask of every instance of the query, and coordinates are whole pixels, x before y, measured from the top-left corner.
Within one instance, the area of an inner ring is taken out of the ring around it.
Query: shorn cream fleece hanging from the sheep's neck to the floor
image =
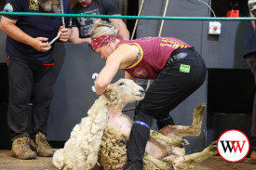
[[[88,111],[88,117],[74,126],[64,148],[54,153],[52,163],[58,169],[88,170],[95,166],[108,118],[106,103],[104,96],[96,99]]]

